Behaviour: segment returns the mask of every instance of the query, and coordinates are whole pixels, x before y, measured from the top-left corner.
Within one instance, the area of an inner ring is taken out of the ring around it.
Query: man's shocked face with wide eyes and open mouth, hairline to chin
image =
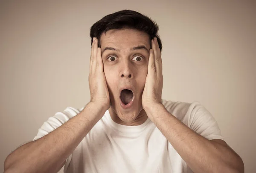
[[[100,42],[111,109],[123,122],[132,122],[143,109],[149,36],[134,29],[113,29],[102,34]]]

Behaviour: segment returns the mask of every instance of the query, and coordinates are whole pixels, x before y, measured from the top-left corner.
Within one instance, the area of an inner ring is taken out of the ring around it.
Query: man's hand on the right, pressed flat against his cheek
[[[162,58],[157,38],[151,40],[152,49],[149,51],[148,74],[142,95],[142,106],[147,112],[155,104],[162,104],[163,72]]]

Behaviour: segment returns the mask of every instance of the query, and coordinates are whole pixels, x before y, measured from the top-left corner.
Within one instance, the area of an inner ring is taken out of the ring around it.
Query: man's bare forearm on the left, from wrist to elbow
[[[48,173],[60,167],[81,140],[105,113],[89,103],[77,116],[42,138],[29,142],[11,153],[5,161],[6,172]]]

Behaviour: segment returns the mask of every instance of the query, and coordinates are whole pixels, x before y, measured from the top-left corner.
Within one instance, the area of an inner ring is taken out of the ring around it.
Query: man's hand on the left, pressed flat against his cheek
[[[90,56],[89,74],[90,102],[102,106],[105,110],[110,107],[110,98],[103,71],[102,52],[98,47],[98,39],[93,38]]]

